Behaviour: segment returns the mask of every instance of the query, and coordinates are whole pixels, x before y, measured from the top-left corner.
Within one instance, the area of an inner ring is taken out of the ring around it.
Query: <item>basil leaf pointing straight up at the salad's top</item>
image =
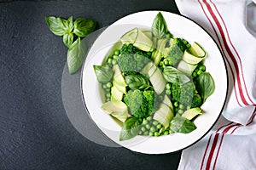
[[[155,16],[151,31],[154,37],[157,37],[158,39],[166,37],[166,34],[168,33],[168,28],[166,25],[166,20],[161,13],[158,13]]]

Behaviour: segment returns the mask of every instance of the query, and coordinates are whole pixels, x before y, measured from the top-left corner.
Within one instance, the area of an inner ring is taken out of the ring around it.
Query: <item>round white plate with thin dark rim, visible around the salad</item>
[[[136,26],[150,28],[158,12],[159,11],[143,11],[130,14],[116,21],[113,25],[108,26],[91,46],[84,63],[81,79],[84,103],[90,113],[91,119],[96,123],[97,127],[117,144],[129,150],[147,154],[163,154],[183,150],[201,139],[218,120],[218,116],[224,108],[228,83],[224,59],[217,44],[212,40],[212,37],[210,37],[201,26],[195,24],[195,22],[177,14],[161,11],[166,20],[168,29],[172,32],[174,37],[183,37],[189,42],[199,42],[203,48],[206,49],[207,59],[205,59],[205,65],[207,66],[207,71],[211,73],[214,79],[215,91],[201,106],[205,113],[195,120],[197,128],[192,133],[173,133],[160,137],[137,136],[127,141],[119,141],[121,127],[119,127],[108,114],[100,109],[102,98],[93,65],[102,64],[102,60],[109,48],[111,48],[113,43],[117,42],[119,37],[126,31]]]

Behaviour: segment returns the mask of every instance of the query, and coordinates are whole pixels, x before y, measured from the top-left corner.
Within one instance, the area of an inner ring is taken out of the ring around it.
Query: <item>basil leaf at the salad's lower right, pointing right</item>
[[[170,129],[176,133],[190,133],[196,129],[194,122],[183,116],[175,116],[171,121]]]

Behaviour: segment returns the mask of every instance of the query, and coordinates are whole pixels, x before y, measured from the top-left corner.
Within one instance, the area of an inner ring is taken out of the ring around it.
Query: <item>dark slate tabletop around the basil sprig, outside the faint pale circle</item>
[[[144,155],[84,138],[67,118],[61,75],[67,48],[44,17],[85,17],[97,28],[142,10],[178,13],[172,0],[0,3],[0,169],[177,169],[181,152]]]

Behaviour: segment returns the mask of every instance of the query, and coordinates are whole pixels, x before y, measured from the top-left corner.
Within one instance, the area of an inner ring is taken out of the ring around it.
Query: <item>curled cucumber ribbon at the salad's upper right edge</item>
[[[183,60],[191,65],[197,65],[205,57],[206,51],[197,42],[194,42],[183,54]]]

